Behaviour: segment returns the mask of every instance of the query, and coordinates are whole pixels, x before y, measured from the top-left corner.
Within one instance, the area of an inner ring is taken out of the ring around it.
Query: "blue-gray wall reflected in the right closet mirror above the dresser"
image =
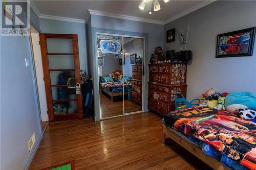
[[[123,44],[125,52],[125,64],[123,65],[124,76],[133,76],[133,68],[131,65],[130,55],[137,54],[137,57],[143,56],[143,39],[136,38],[130,42]]]

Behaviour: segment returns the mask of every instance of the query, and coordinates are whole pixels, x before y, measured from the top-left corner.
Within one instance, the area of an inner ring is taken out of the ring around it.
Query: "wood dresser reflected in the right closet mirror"
[[[134,64],[132,78],[132,102],[142,104],[142,64]]]

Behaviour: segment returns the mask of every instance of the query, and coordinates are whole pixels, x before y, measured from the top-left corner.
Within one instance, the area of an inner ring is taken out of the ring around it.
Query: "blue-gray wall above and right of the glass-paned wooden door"
[[[40,29],[42,33],[78,35],[80,69],[86,69],[86,71],[88,72],[88,41],[86,28],[86,24],[84,23],[59,21],[52,19],[40,19]]]

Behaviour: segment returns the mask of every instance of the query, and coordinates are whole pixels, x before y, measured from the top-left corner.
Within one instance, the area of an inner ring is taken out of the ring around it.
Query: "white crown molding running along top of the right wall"
[[[189,9],[187,9],[187,10],[185,10],[185,11],[183,11],[183,12],[177,14],[177,15],[175,15],[172,18],[166,19],[165,21],[163,21],[163,23],[164,23],[164,25],[166,25],[169,22],[172,22],[172,21],[174,21],[174,20],[176,20],[178,18],[181,18],[182,16],[185,16],[185,15],[191,13],[191,12],[194,12],[194,11],[196,11],[196,10],[198,10],[200,8],[203,8],[203,7],[205,7],[205,6],[207,6],[207,5],[211,4],[211,3],[214,3],[216,1],[217,0],[207,0],[207,1],[204,1],[204,2],[202,2],[200,4],[198,4],[198,5],[195,5],[195,6],[191,7],[191,8],[189,8]]]

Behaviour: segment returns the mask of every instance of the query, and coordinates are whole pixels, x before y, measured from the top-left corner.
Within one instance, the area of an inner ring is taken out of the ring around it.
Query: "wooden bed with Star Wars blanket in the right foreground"
[[[227,111],[200,106],[163,117],[163,138],[172,138],[214,169],[256,169],[256,124]]]

